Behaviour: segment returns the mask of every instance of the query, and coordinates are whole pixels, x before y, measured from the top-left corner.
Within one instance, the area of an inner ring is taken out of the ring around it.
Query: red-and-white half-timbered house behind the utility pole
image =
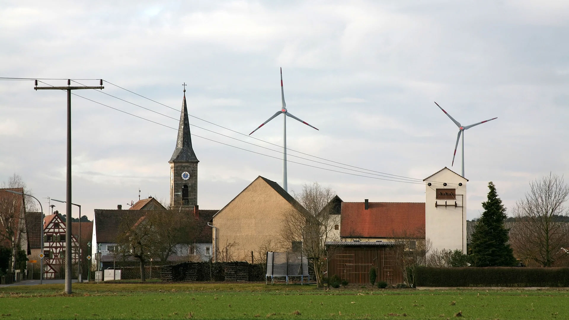
[[[65,270],[65,223],[59,212],[48,215],[43,219],[43,254],[44,254],[44,278],[61,278]],[[75,236],[71,236],[72,264],[76,264],[79,256],[79,245]]]

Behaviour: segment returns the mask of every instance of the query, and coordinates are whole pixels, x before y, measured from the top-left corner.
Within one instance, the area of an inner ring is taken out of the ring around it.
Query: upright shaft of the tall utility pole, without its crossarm
[[[65,224],[65,293],[71,294],[71,89],[67,89],[67,197]]]

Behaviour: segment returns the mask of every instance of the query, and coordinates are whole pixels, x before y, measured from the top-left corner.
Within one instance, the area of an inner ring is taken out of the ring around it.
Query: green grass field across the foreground
[[[567,290],[331,289],[265,284],[0,288],[2,319],[567,319]],[[459,314],[459,312],[461,312]]]

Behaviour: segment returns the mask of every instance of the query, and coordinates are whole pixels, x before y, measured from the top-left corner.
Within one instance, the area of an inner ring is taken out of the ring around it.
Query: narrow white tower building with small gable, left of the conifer
[[[431,186],[428,186],[428,182]],[[447,183],[447,186],[443,183]],[[459,249],[466,253],[467,184],[466,179],[449,169],[443,169],[425,180],[425,232],[426,238],[431,241],[431,251]],[[437,200],[438,188],[455,188],[457,207],[455,200],[446,200],[447,206],[444,206],[445,200]]]

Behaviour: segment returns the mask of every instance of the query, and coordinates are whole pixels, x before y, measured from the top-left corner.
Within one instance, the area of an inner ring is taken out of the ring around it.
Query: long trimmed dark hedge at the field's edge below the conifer
[[[417,268],[416,286],[569,287],[569,268]]]

